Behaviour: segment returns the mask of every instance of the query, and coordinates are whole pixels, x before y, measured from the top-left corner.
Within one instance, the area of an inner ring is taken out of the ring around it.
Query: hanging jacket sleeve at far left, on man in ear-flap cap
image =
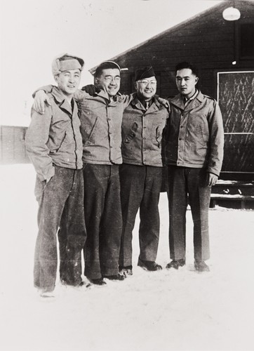
[[[43,116],[32,109],[32,120],[25,136],[25,145],[29,159],[34,165],[39,180],[46,180],[46,182],[55,174],[55,168],[47,147],[51,117],[51,106],[46,107]]]

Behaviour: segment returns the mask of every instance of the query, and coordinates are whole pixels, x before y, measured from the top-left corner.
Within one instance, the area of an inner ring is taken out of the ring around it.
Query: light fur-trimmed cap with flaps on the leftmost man
[[[64,53],[58,55],[52,62],[52,73],[59,74],[60,72],[68,71],[69,69],[79,69],[82,71],[85,62],[82,58]]]

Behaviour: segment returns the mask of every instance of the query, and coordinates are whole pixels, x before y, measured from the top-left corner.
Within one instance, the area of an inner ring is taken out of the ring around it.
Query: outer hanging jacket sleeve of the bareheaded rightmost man
[[[210,129],[210,157],[207,171],[219,176],[223,161],[224,130],[220,107],[215,100],[213,101],[213,110],[210,111],[208,117],[208,123]]]

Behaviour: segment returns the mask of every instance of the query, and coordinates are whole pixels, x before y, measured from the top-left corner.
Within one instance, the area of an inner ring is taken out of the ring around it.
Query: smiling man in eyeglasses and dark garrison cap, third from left
[[[152,67],[135,72],[136,93],[123,112],[119,168],[123,232],[119,270],[133,274],[132,237],[140,210],[140,256],[138,266],[161,270],[156,260],[159,244],[159,194],[162,183],[161,140],[168,110],[156,98],[156,77]]]

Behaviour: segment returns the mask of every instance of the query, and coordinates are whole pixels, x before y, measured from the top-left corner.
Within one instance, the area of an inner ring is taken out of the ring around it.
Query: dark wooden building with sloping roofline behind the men
[[[239,9],[239,20],[222,17],[230,6]],[[133,91],[135,69],[152,65],[157,93],[163,98],[178,93],[174,72],[178,62],[197,65],[198,88],[218,100],[222,110],[225,157],[220,178],[254,180],[253,1],[222,1],[111,60],[128,68],[122,72],[122,93]]]

